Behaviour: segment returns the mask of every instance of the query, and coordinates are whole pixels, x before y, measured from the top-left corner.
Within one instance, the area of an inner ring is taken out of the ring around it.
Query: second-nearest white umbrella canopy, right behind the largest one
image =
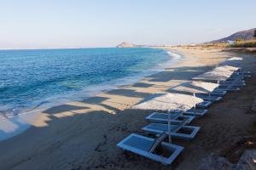
[[[188,92],[190,94],[209,94],[214,89],[218,88],[218,85],[218,83],[212,82],[183,82],[182,84],[179,84],[177,87],[169,88],[169,90],[181,93]]]

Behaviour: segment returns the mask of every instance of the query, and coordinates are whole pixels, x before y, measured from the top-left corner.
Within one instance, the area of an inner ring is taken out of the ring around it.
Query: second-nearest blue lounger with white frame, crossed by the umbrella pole
[[[143,131],[151,134],[160,134],[160,133],[168,133],[168,124],[164,123],[155,123],[152,122],[148,124],[146,127],[142,128]],[[198,133],[200,127],[194,126],[184,126],[182,124],[171,125],[171,135],[177,139],[191,140],[195,138],[196,133]],[[184,133],[187,132],[187,133]]]

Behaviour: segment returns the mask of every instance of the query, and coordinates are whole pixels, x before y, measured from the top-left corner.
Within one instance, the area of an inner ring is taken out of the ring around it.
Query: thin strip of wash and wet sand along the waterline
[[[169,50],[163,49],[163,50],[166,52],[166,54],[169,55],[169,59],[167,60],[167,62],[154,65],[154,67],[148,69],[148,71],[141,71],[138,76],[131,75],[127,77],[118,78],[110,82],[104,82],[101,85],[94,86],[94,88],[98,87],[97,90],[92,89],[92,87],[86,88],[86,90],[82,90],[79,93],[79,94],[86,94],[86,97],[85,95],[81,95],[77,97],[77,99],[69,99],[72,97],[67,97],[68,99],[63,100],[62,102],[57,102],[57,103],[54,102],[54,103],[50,103],[49,105],[44,105],[42,107],[36,106],[33,109],[28,109],[28,111],[22,112],[15,116],[11,116],[11,117],[0,116],[0,129],[4,131],[3,133],[1,133],[0,131],[0,141],[12,138],[15,135],[18,135],[20,133],[24,133],[28,128],[32,126],[33,122],[37,122],[37,120],[35,119],[38,118],[39,114],[41,114],[42,112],[52,107],[56,107],[58,105],[65,105],[71,102],[79,102],[81,99],[90,99],[95,97],[98,94],[108,93],[108,91],[120,88],[122,86],[133,85],[136,82],[140,82],[145,77],[149,77],[154,74],[157,74],[158,72],[164,71],[167,66],[175,65],[178,62],[178,60],[183,59],[182,54],[177,54],[177,52],[173,52],[170,49]],[[127,79],[129,79],[130,81],[127,81]],[[101,88],[102,86],[104,88]],[[74,94],[72,96],[74,96]]]

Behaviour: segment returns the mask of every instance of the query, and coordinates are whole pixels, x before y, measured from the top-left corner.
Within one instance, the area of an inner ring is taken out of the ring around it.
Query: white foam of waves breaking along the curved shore
[[[91,85],[84,88],[82,91],[79,91],[78,93],[72,93],[66,97],[63,97],[63,95],[55,95],[42,101],[42,103],[44,102],[47,104],[39,105],[38,107],[22,111],[15,116],[0,116],[0,141],[9,139],[19,133],[24,132],[28,127],[32,125],[31,122],[33,122],[33,119],[37,118],[37,114],[40,114],[50,107],[67,104],[71,101],[88,99],[90,97],[96,96],[96,94],[119,88],[119,86],[134,84],[142,80],[144,77],[148,77],[157,72],[164,71],[166,67],[175,65],[177,61],[182,58],[182,55],[177,54],[176,52],[166,51],[166,53],[171,56],[167,62],[160,63],[159,65],[148,69],[147,71],[141,71],[139,74],[131,75],[129,77],[122,77],[113,81],[101,83],[99,85]]]

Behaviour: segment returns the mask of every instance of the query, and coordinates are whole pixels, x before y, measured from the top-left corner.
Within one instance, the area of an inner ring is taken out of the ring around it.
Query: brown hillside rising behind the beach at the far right
[[[230,37],[224,37],[224,38],[221,38],[218,40],[214,40],[214,41],[212,41],[212,43],[236,41],[237,39],[250,40],[250,39],[253,39],[255,30],[256,30],[256,28],[246,30],[246,31],[239,31],[239,32],[236,32],[235,34],[232,34]]]

